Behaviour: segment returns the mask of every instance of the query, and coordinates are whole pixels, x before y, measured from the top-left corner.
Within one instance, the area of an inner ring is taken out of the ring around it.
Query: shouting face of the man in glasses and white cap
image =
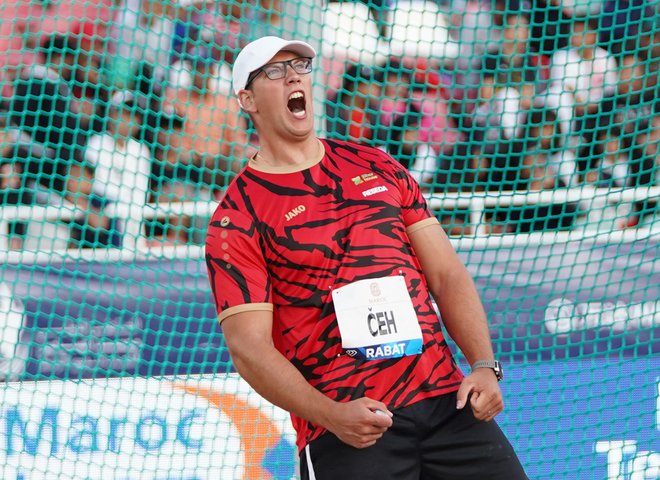
[[[293,60],[300,55],[282,51],[270,62]],[[279,135],[302,137],[313,133],[312,76],[296,73],[288,65],[283,78],[271,80],[260,72],[252,81],[252,106],[248,111],[262,131],[271,130]]]

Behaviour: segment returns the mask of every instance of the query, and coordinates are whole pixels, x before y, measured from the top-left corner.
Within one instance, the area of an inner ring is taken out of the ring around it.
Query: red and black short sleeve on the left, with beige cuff
[[[271,310],[271,287],[254,221],[219,207],[206,236],[206,267],[220,322],[245,310]]]

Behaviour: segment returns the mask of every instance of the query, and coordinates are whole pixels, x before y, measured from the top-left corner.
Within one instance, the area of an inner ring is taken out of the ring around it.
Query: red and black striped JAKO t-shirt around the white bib
[[[396,409],[457,390],[463,376],[408,238],[437,219],[387,154],[322,143],[325,155],[308,168],[274,173],[248,164],[228,187],[206,243],[219,320],[272,310],[276,348],[337,401],[368,396]],[[422,353],[383,360],[344,354],[331,289],[400,274],[421,326]],[[300,449],[324,432],[292,421]]]

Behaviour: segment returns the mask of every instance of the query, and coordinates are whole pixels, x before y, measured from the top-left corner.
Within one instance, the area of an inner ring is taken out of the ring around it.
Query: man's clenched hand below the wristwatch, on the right
[[[456,408],[464,408],[468,399],[477,420],[489,422],[504,410],[495,372],[489,368],[477,368],[465,377],[456,395]]]

